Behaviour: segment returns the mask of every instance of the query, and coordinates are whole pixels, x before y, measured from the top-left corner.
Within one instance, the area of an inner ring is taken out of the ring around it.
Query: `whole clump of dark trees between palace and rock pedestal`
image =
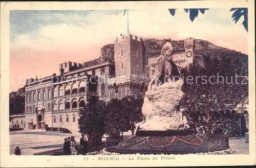
[[[105,133],[111,137],[120,137],[123,132],[131,130],[134,134],[135,125],[143,119],[142,105],[142,96],[112,99],[110,102],[92,97],[79,113],[79,132],[86,133],[89,142],[94,145],[101,143]]]

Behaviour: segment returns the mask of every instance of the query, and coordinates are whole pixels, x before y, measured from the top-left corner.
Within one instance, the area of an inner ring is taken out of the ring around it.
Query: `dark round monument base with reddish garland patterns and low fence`
[[[220,140],[222,137],[207,137],[193,130],[138,131],[136,134],[124,139],[117,146],[106,148],[106,151],[121,154],[188,154],[221,151],[229,148],[228,138]],[[157,134],[160,136],[156,136]],[[164,134],[166,136],[163,136]]]

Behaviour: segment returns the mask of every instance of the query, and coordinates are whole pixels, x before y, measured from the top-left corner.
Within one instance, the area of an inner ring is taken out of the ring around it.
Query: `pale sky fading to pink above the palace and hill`
[[[126,13],[127,14],[127,13]],[[59,64],[96,59],[103,45],[127,33],[123,10],[10,11],[10,91],[28,78],[59,74]],[[193,22],[183,9],[129,10],[129,31],[143,38],[187,37],[248,54],[243,16],[235,24],[228,8],[199,13]]]

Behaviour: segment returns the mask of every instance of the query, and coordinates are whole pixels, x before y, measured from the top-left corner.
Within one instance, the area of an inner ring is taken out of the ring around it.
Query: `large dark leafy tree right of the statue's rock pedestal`
[[[244,84],[244,69],[237,60],[231,62],[225,56],[205,60],[204,67],[192,65],[182,70],[184,75],[183,98],[179,106],[188,111],[204,111],[207,113],[206,123],[210,125],[212,112],[236,107],[248,99],[248,83]],[[189,80],[192,79],[193,81]]]

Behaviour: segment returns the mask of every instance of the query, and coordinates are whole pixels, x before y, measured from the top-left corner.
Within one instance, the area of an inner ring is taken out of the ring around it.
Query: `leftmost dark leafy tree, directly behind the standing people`
[[[104,131],[106,103],[97,97],[91,97],[84,109],[79,112],[78,127],[80,133],[88,136],[91,145],[99,145]]]

